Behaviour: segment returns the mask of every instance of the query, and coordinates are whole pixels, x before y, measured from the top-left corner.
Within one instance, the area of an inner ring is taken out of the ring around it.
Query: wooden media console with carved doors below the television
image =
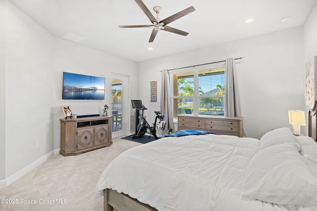
[[[109,146],[111,135],[111,116],[60,119],[59,154],[79,155]]]

